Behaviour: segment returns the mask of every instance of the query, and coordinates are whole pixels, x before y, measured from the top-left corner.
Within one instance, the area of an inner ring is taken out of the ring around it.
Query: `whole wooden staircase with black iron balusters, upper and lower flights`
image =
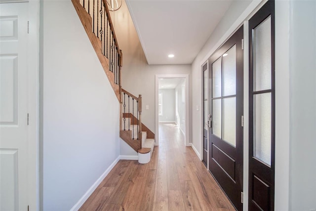
[[[121,87],[122,51],[106,0],[72,2],[120,103],[120,138],[138,154],[152,154],[155,134],[142,123],[142,96],[136,97]]]

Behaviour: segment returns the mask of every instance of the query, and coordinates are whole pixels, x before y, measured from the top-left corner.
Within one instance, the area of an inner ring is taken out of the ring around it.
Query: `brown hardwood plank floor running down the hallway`
[[[79,211],[235,211],[177,127],[159,137],[150,163],[120,160]]]

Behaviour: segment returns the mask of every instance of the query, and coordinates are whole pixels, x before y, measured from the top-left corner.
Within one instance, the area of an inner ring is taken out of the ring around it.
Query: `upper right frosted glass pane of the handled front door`
[[[223,54],[223,95],[236,94],[236,44]]]

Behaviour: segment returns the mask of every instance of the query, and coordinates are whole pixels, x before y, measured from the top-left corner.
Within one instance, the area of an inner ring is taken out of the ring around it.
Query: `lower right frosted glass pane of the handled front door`
[[[236,147],[236,97],[223,99],[223,140]]]

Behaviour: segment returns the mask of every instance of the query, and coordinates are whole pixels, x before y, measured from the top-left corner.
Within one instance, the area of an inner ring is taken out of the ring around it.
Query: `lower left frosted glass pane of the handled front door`
[[[213,134],[222,138],[222,99],[216,99],[213,101]]]

